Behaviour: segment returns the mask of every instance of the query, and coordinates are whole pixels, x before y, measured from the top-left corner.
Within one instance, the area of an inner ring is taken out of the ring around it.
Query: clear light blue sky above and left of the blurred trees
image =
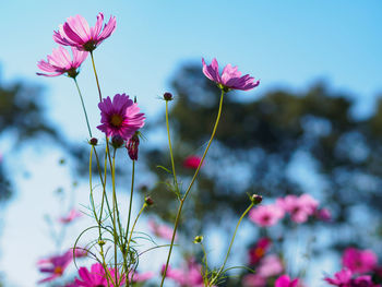
[[[23,79],[44,85],[49,117],[80,141],[86,137],[86,127],[74,85],[63,76],[35,74],[36,62],[57,47],[52,31],[75,14],[85,16],[91,25],[98,12],[106,19],[116,15],[115,34],[95,51],[103,93],[138,96],[148,116],[163,108],[157,97],[169,87],[179,64],[200,62],[201,57],[207,61],[216,57],[222,64],[237,64],[240,71],[261,79],[254,96],[277,86],[305,89],[317,80],[325,80],[335,91],[350,92],[358,104],[354,112],[359,117],[373,110],[375,95],[382,92],[379,0],[3,0],[0,11],[1,81]],[[94,127],[98,96],[88,60],[79,83]],[[50,155],[52,151],[32,148],[4,159],[17,176],[19,191],[3,213],[0,268],[15,286],[33,286],[31,282],[37,279],[34,262],[47,243],[40,229],[36,231],[31,225],[41,220],[44,206],[52,206],[53,199],[44,194],[58,186],[55,180],[63,182],[69,176],[26,165],[35,176],[28,181],[11,162],[41,160],[40,168],[48,167],[59,158]],[[22,252],[31,255],[22,261],[14,258]],[[23,276],[19,276],[20,268]]]

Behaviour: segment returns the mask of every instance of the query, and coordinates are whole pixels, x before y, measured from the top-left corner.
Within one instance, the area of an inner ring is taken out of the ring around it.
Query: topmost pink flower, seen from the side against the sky
[[[89,27],[82,15],[70,16],[63,25],[60,25],[58,31],[55,31],[53,40],[82,51],[93,51],[116,29],[116,17],[110,16],[109,22],[104,26],[104,31],[103,23],[103,13],[98,13],[94,27]]]

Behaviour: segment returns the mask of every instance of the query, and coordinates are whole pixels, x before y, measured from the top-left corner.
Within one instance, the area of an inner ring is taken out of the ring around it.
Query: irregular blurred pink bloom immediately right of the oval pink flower
[[[290,214],[291,220],[301,224],[308,220],[310,215],[313,215],[319,205],[312,196],[305,193],[300,196],[287,195],[276,200],[276,204],[285,212]]]

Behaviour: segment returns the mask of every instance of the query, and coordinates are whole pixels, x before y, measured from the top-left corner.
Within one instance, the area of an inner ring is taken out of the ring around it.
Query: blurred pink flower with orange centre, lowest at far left
[[[56,255],[48,259],[39,260],[37,262],[37,265],[39,265],[39,272],[48,273],[49,276],[44,279],[40,279],[38,283],[50,282],[58,277],[61,277],[64,270],[71,263],[72,258],[72,251],[68,250],[62,255]]]

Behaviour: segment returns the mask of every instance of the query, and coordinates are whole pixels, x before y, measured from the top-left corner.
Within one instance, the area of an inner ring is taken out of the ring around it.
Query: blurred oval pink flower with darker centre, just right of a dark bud
[[[249,213],[249,218],[262,227],[273,226],[283,217],[284,211],[275,204],[260,205]]]

